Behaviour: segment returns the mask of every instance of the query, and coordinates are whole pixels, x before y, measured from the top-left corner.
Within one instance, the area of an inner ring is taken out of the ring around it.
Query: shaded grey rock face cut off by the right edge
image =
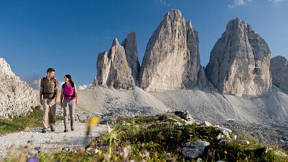
[[[276,56],[271,59],[270,71],[272,73],[272,83],[281,91],[288,94],[288,63],[283,56]]]

